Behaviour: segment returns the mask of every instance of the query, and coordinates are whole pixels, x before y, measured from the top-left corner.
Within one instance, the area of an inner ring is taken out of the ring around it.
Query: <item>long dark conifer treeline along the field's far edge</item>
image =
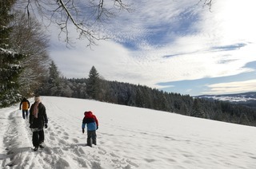
[[[151,108],[186,116],[256,126],[256,110],[254,108],[218,100],[193,98],[189,95],[174,92],[163,92],[145,85],[106,81],[99,77],[94,66],[90,70],[89,78],[66,79],[59,77],[54,62],[50,66],[50,72],[51,77],[38,90],[41,95],[94,99],[114,104]]]

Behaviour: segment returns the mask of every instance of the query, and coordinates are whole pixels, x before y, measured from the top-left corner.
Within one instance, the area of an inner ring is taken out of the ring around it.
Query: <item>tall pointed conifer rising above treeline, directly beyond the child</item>
[[[89,78],[86,82],[86,93],[90,98],[97,100],[100,92],[99,75],[95,67],[90,69]]]

